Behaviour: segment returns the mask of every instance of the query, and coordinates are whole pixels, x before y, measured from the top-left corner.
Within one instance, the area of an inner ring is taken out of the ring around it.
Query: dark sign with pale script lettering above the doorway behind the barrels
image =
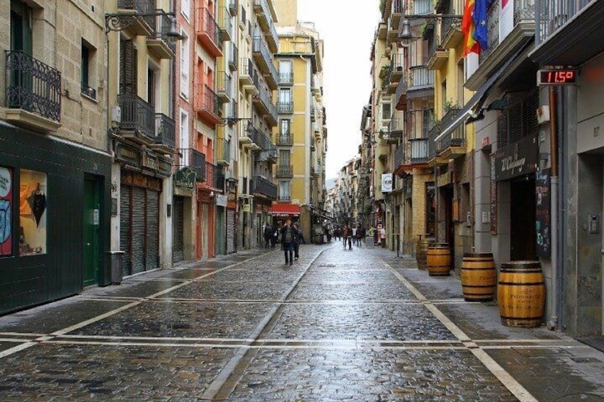
[[[538,162],[537,136],[531,135],[498,150],[495,159],[496,181],[532,173]]]

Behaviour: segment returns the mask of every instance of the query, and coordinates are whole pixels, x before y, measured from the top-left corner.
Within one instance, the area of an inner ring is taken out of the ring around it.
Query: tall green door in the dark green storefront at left
[[[84,180],[84,216],[83,216],[83,286],[98,283],[100,266],[100,188],[93,178]]]

